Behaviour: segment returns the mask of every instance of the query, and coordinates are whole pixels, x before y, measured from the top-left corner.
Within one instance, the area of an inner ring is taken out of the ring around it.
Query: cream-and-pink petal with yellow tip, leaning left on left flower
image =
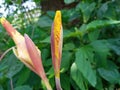
[[[16,44],[16,48],[13,48],[13,52],[16,57],[20,59],[20,61],[22,61],[27,67],[36,72],[28,55],[24,37],[16,29],[14,29],[5,18],[1,18],[0,21]]]

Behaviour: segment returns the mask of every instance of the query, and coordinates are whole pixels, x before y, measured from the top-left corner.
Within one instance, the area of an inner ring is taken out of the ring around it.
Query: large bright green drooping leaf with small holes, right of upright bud
[[[75,63],[78,70],[89,81],[89,83],[95,87],[96,85],[96,72],[92,68],[93,62],[93,49],[90,46],[84,46],[77,50],[75,54]],[[93,66],[94,67],[94,66]]]

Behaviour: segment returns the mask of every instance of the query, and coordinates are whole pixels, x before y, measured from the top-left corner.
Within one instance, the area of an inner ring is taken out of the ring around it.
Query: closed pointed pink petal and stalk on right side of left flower
[[[35,44],[32,42],[32,40],[29,38],[29,36],[27,34],[25,34],[24,37],[25,37],[25,43],[26,43],[26,47],[27,47],[29,56],[33,62],[33,66],[34,66],[35,70],[37,71],[39,76],[44,81],[47,89],[52,90],[52,88],[48,82],[48,79],[46,77],[43,65],[42,65],[41,55],[39,54]]]

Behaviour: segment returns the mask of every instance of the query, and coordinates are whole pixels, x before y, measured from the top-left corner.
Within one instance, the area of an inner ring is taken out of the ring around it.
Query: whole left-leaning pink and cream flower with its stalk
[[[0,21],[16,44],[16,48],[13,48],[15,56],[42,78],[47,90],[52,90],[42,66],[41,53],[39,49],[27,35],[23,37],[5,18],[1,18]]]

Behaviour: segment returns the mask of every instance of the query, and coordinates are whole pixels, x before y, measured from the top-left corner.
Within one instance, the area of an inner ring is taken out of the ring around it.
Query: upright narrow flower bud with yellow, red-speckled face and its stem
[[[60,84],[60,64],[62,56],[63,30],[61,12],[56,11],[56,15],[51,30],[51,53],[52,63],[55,71],[55,81],[57,90],[62,90]]]

